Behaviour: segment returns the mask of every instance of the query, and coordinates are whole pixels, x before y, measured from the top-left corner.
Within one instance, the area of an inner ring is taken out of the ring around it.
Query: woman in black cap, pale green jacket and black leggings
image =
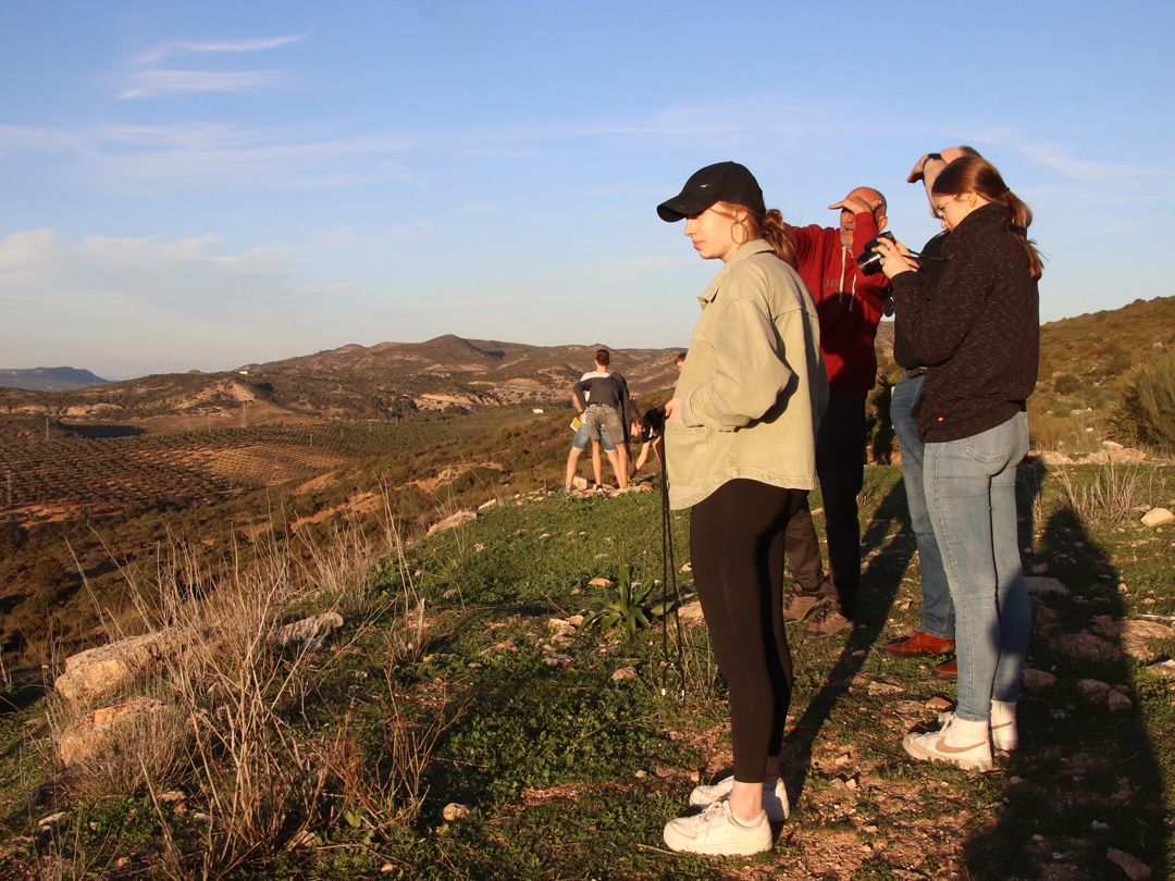
[[[665,826],[673,850],[753,854],[787,816],[779,754],[792,660],[783,619],[784,533],[815,486],[815,426],[827,403],[815,307],[793,270],[777,210],[736,162],[694,173],[657,208],[685,220],[723,268],[665,405],[670,506],[691,509],[694,584],[730,687],[734,774],[699,786],[703,813]]]

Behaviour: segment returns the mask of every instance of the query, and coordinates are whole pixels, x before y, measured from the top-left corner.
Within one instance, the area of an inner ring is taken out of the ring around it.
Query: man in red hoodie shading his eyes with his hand
[[[828,206],[840,211],[839,227],[787,227],[799,260],[799,274],[815,301],[820,318],[820,351],[828,371],[831,397],[820,419],[815,468],[824,498],[828,573],[832,587],[822,594],[793,593],[785,619],[812,614],[800,637],[824,637],[852,625],[861,580],[861,534],[857,496],[865,479],[865,398],[877,382],[873,339],[888,297],[888,281],[878,273],[864,275],[857,256],[886,226],[885,196],[858,187]],[[815,531],[804,520],[804,534],[788,536],[792,556],[813,552],[819,559]],[[827,594],[827,596],[825,596]]]

